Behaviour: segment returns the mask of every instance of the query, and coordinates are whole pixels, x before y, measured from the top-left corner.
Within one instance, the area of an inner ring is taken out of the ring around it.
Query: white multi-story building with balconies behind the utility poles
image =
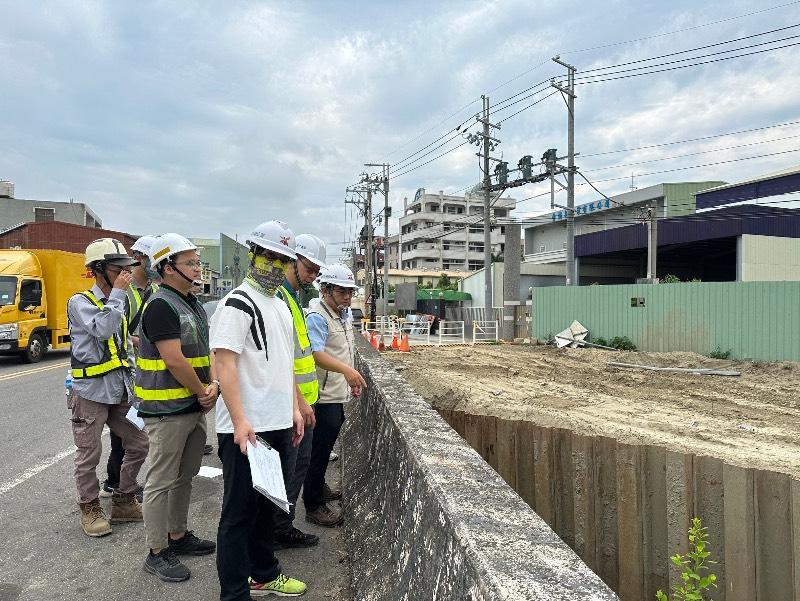
[[[491,217],[508,217],[514,210],[513,198],[499,198],[492,205]],[[397,240],[397,259],[401,269],[432,271],[475,271],[483,268],[483,195],[454,196],[417,190],[413,202],[404,201]],[[491,252],[505,250],[505,228],[491,228]],[[392,240],[389,262],[392,264]]]

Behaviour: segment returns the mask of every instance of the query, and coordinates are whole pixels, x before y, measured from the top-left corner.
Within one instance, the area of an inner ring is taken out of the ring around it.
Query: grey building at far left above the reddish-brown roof
[[[46,221],[103,227],[100,218],[82,202],[14,198],[14,184],[0,181],[0,231]]]

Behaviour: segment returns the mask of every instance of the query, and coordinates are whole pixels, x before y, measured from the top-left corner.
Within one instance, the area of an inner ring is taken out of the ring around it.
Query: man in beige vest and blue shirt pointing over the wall
[[[332,497],[341,496],[325,483],[328,459],[344,423],[344,403],[351,392],[359,396],[366,382],[353,367],[355,344],[348,311],[357,289],[353,272],[342,264],[330,265],[322,270],[319,282],[322,300],[309,307],[306,318],[317,364],[319,400],[303,504],[307,521],[331,527],[341,523],[342,515],[327,504]]]

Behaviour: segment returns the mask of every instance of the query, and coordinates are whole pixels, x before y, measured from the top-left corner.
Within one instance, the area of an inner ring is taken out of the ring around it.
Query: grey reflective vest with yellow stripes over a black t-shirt
[[[181,324],[181,352],[205,385],[211,379],[211,352],[208,347],[208,321],[205,313],[195,312],[179,294],[160,287],[145,303],[160,298],[175,311]],[[150,415],[175,413],[197,403],[197,395],[184,387],[161,358],[155,343],[142,329],[139,337],[139,356],[136,359],[136,383],[133,392],[141,400],[139,410]]]

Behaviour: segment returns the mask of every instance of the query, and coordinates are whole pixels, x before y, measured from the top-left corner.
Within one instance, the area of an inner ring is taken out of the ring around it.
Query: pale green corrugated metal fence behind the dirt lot
[[[644,299],[644,306],[631,306]],[[577,319],[592,337],[641,350],[730,350],[733,358],[800,361],[800,282],[698,282],[537,288],[533,336]]]

